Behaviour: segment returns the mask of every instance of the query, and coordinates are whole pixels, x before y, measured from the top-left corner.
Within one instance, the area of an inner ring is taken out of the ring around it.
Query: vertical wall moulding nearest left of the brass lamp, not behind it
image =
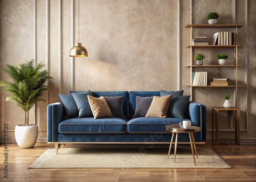
[[[59,93],[61,93],[62,88],[62,1],[59,0]]]

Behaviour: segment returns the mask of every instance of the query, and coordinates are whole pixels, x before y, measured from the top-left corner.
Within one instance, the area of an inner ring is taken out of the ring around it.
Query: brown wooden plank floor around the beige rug
[[[231,169],[28,169],[44,151],[53,145],[37,143],[34,148],[22,149],[8,145],[5,158],[0,144],[0,181],[256,181],[256,145],[212,145],[211,147]],[[166,149],[167,152],[168,149]],[[8,178],[5,178],[5,160],[8,160]]]

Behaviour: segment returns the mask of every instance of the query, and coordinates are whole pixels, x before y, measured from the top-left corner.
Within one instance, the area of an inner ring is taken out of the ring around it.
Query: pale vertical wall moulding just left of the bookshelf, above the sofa
[[[177,57],[178,57],[178,62],[177,62],[177,70],[178,70],[178,81],[177,81],[177,89],[180,90],[180,0],[178,0],[178,32],[177,32]]]

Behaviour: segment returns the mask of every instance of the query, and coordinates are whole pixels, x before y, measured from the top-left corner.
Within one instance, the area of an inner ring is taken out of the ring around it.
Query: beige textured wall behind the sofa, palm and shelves
[[[36,4],[35,4],[36,2]],[[48,103],[58,101],[58,93],[69,90],[185,90],[190,94],[189,85],[190,51],[189,44],[190,1],[176,0],[80,0],[79,40],[87,48],[88,58],[69,57],[72,47],[72,2],[71,0],[0,0],[0,67],[5,64],[19,64],[35,58],[45,60],[54,80],[44,95],[47,102],[37,103],[30,114],[30,122],[39,125],[39,141],[47,137]],[[207,24],[209,11],[220,14],[218,23],[233,23],[233,0],[193,0],[192,23]],[[35,6],[36,5],[36,6]],[[248,24],[246,22],[246,1],[237,1],[236,20],[244,24],[239,30],[240,48],[238,106],[241,108],[241,138],[256,139],[255,105],[255,8],[248,0]],[[78,1],[74,1],[74,42],[78,41]],[[35,15],[36,12],[36,16]],[[180,12],[180,53],[178,58],[178,12]],[[48,17],[48,18],[47,18]],[[35,18],[35,19],[34,19]],[[36,29],[34,25],[36,23]],[[224,31],[224,30],[223,30]],[[211,39],[216,30],[196,30],[194,36]],[[246,37],[247,36],[247,37]],[[36,39],[34,39],[36,37]],[[15,48],[14,48],[15,47]],[[215,64],[215,55],[223,50],[195,50],[206,54],[205,64]],[[230,54],[232,50],[225,50]],[[247,58],[245,58],[247,56]],[[180,69],[178,60],[180,59]],[[209,76],[214,74],[233,77],[233,70],[206,69]],[[178,74],[180,72],[180,83]],[[248,79],[247,79],[248,77]],[[0,72],[1,80],[7,76]],[[1,88],[2,89],[2,88]],[[193,89],[193,100],[207,106],[208,128],[211,127],[211,107],[221,106],[224,95],[229,93],[233,101],[233,89]],[[24,112],[14,103],[5,102],[1,93],[1,129],[9,125],[9,138],[14,139],[13,129],[23,123]],[[246,97],[247,96],[247,97]],[[246,103],[248,102],[248,107]],[[248,120],[246,120],[248,112]],[[223,114],[221,126],[228,126],[228,116]],[[0,139],[3,138],[1,131]],[[209,133],[210,137],[210,133]],[[221,137],[233,138],[233,133],[222,132]]]

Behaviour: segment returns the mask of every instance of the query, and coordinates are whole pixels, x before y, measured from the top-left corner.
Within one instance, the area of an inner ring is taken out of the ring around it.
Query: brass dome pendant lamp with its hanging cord
[[[80,1],[78,1],[78,42],[79,42],[79,16],[80,16]],[[82,46],[82,43],[76,43],[69,51],[71,57],[88,57],[87,49]]]

